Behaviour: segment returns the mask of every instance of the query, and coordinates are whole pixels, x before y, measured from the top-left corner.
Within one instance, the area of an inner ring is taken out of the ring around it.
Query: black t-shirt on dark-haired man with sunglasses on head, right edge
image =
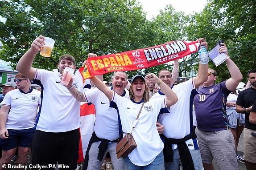
[[[256,89],[250,87],[243,91],[240,91],[236,103],[244,108],[251,107],[256,100]],[[250,113],[245,113],[245,128],[256,130],[256,124],[249,122]]]

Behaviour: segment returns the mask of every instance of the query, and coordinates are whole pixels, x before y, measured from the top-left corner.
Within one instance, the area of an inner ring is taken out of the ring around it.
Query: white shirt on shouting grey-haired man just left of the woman
[[[95,106],[95,134],[99,138],[116,140],[119,137],[117,111],[110,107],[107,96],[97,88],[85,92],[84,95],[87,103],[93,103]],[[129,98],[129,91],[125,89],[122,96]]]

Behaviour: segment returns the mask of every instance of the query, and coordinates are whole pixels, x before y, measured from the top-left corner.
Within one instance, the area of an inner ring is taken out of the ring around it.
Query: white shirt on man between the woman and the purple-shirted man
[[[173,92],[178,96],[178,102],[169,107],[169,113],[161,113],[159,123],[164,125],[166,138],[181,139],[190,134],[193,130],[193,99],[194,79],[173,86]],[[165,95],[158,91],[152,99],[165,98]],[[189,139],[186,144],[190,150],[199,149],[197,139]],[[176,149],[177,144],[173,144]]]

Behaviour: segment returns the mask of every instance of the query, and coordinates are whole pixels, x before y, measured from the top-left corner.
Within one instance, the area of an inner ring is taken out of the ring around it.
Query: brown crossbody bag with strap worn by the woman
[[[140,107],[140,111],[137,115],[137,118],[136,118],[135,122],[133,123],[132,130],[135,128],[136,124],[138,123],[140,112],[142,110],[142,107],[144,106],[144,103],[145,102],[143,102],[142,106]],[[124,138],[122,138],[122,140],[120,140],[120,138],[123,136],[123,133],[125,133],[125,136],[124,136]],[[118,138],[117,145],[116,145],[116,154],[117,154],[118,159],[125,158],[137,146],[136,142],[132,136],[132,131],[131,131],[131,133],[126,133],[126,132],[123,132],[123,133],[120,134],[120,136]]]

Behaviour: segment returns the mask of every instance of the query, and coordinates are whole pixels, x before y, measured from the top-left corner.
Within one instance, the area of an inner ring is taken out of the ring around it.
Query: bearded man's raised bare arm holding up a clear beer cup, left
[[[32,67],[32,63],[35,56],[37,55],[37,52],[41,50],[41,47],[44,44],[44,40],[44,36],[39,36],[36,38],[31,44],[29,50],[21,57],[16,67],[17,71],[31,80],[34,79],[36,74],[36,70]]]

